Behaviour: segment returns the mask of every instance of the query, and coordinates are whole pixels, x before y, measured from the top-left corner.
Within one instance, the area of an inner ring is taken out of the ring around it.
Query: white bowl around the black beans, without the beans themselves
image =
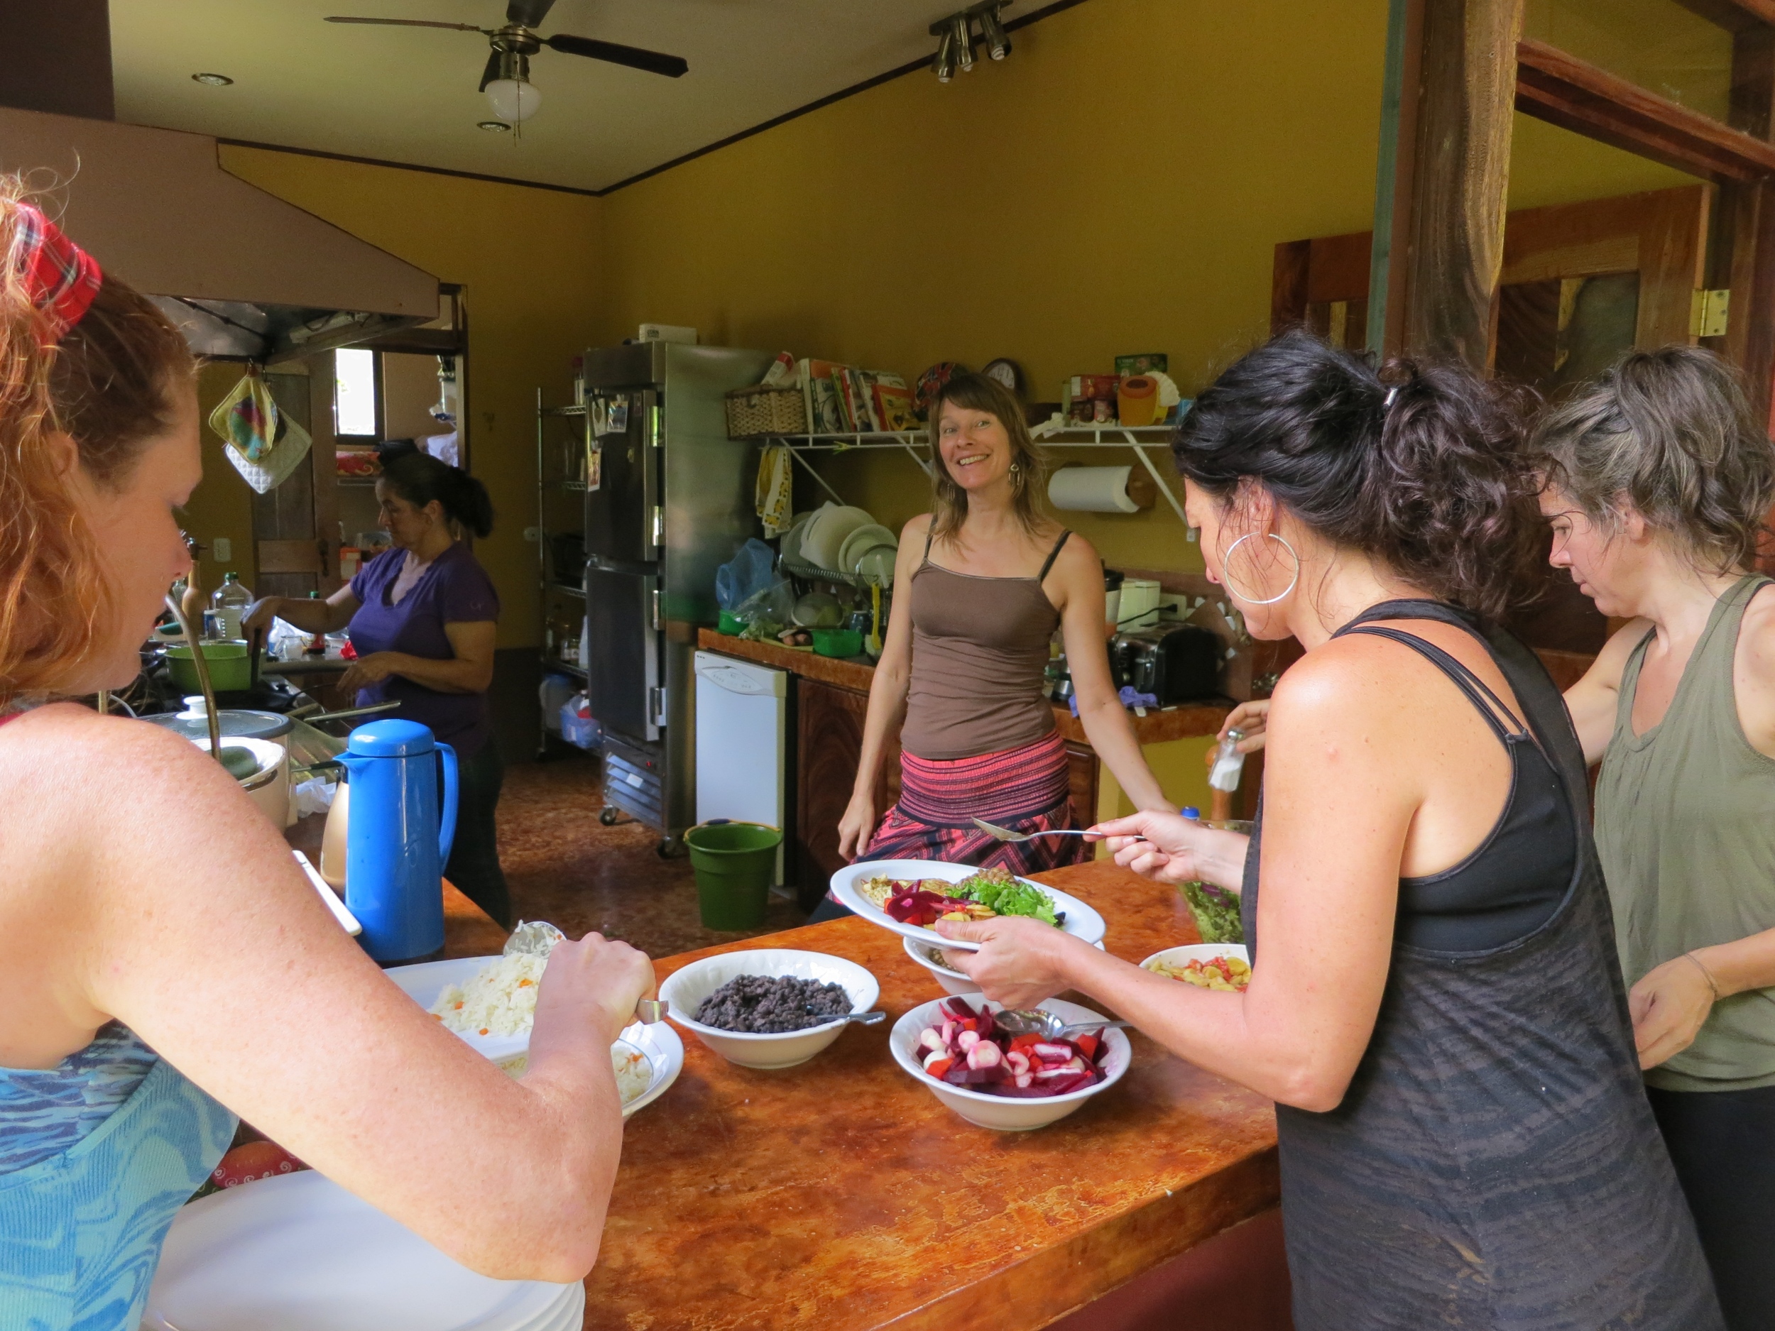
[[[843,1035],[847,1026],[843,1020],[831,1020],[783,1035],[751,1035],[703,1026],[690,1015],[703,1006],[703,999],[742,974],[795,976],[797,980],[818,980],[822,985],[841,985],[850,994],[852,1012],[870,1012],[882,992],[875,976],[856,962],[827,957],[824,951],[797,951],[795,948],[730,951],[705,957],[674,971],[660,985],[660,997],[669,1004],[667,1017],[742,1068],[792,1068],[797,1063],[806,1063]]]

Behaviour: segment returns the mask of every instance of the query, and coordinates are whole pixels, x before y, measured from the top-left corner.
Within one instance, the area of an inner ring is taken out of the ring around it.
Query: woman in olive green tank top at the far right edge
[[[1775,451],[1732,371],[1635,351],[1537,429],[1553,563],[1629,619],[1566,694],[1653,1109],[1732,1331],[1775,1327]]]

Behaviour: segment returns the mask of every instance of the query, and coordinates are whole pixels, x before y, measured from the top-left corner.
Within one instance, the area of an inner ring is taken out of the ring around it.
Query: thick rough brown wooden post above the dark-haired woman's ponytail
[[[1393,0],[1370,346],[1489,362],[1521,27],[1523,0]]]

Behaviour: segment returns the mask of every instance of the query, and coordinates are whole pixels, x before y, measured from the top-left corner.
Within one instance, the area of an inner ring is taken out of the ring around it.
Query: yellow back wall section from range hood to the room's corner
[[[469,311],[470,470],[493,495],[476,555],[499,587],[501,646],[538,641],[536,389],[564,401],[596,335],[600,201],[557,190],[222,147],[222,165],[371,245],[462,282]]]

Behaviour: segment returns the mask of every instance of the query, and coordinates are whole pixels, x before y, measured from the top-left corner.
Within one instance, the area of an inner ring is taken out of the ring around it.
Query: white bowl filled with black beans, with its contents
[[[792,1068],[880,997],[875,976],[843,957],[756,948],[705,957],[660,985],[667,1015],[730,1063]]]

